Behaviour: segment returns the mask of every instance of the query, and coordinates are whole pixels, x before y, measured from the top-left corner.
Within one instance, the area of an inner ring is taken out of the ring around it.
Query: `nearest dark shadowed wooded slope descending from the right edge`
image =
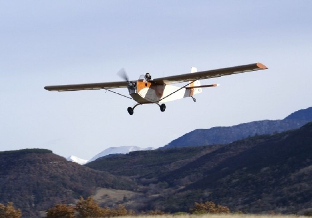
[[[202,199],[234,211],[305,214],[312,204],[311,146],[312,123],[294,131],[233,142],[163,177],[169,184],[185,177],[195,181],[152,204],[186,210],[192,201]]]

